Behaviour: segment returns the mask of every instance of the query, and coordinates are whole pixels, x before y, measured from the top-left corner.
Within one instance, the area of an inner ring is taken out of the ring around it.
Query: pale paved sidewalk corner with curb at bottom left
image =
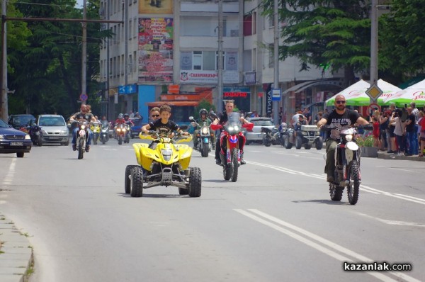
[[[26,282],[32,268],[30,241],[0,213],[0,281]]]

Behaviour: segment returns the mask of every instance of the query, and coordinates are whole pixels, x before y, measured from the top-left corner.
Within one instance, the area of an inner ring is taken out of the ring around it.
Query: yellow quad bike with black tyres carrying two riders
[[[135,143],[138,165],[125,167],[125,193],[142,197],[144,188],[154,186],[179,187],[180,195],[199,197],[202,176],[199,167],[189,167],[192,148],[179,144],[189,142],[191,135],[176,134],[173,138],[160,137],[156,131],[147,135],[140,133],[140,139],[152,140],[154,149],[147,143]]]

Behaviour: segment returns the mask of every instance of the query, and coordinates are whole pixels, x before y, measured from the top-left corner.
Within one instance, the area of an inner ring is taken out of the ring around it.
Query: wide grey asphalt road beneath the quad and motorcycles
[[[424,162],[363,158],[350,205],[346,193],[330,201],[323,154],[249,145],[233,183],[194,152],[200,198],[173,187],[131,198],[131,145],[93,145],[82,160],[70,146],[33,147],[23,159],[0,155],[0,212],[29,235],[30,282],[424,280]]]

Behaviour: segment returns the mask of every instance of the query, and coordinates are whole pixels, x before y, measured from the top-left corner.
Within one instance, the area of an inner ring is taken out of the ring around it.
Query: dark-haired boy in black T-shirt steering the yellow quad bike
[[[180,132],[181,135],[188,135],[189,132],[183,132],[180,129],[179,125],[175,123],[173,120],[170,120],[171,116],[171,108],[168,105],[162,105],[159,108],[159,115],[161,118],[158,120],[154,120],[149,122],[147,125],[142,126],[142,133],[148,133],[149,130],[157,130],[159,131],[160,136],[166,136],[172,138],[174,136],[174,131]],[[157,143],[153,142],[149,145],[151,149],[155,149],[157,147]]]

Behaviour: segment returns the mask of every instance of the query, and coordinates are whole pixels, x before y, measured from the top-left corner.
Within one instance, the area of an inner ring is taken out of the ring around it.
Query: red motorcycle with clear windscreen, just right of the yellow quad
[[[242,124],[239,120],[239,113],[231,113],[227,115],[228,120],[226,125],[211,125],[212,130],[223,128],[224,130],[220,135],[220,147],[225,147],[220,150],[220,159],[223,167],[223,176],[225,180],[232,179],[233,182],[237,181],[237,173],[241,165],[241,151],[239,150],[239,138],[244,138],[242,128],[252,131],[254,123]],[[222,142],[226,140],[226,145],[223,146]],[[225,155],[226,154],[226,155]]]

